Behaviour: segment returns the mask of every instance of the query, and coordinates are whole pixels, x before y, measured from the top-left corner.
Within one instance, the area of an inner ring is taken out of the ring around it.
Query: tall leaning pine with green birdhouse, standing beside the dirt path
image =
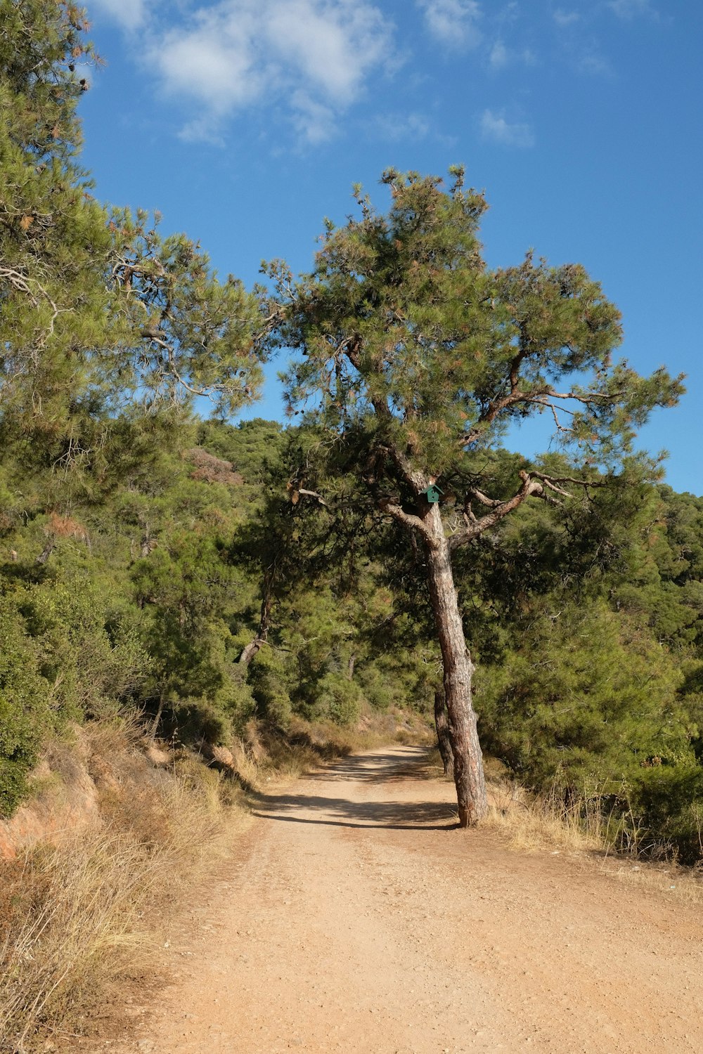
[[[452,554],[526,500],[568,500],[597,467],[614,472],[637,427],[676,402],[681,384],[612,363],[620,314],[583,267],[528,254],[519,267],[487,269],[477,240],[486,202],[464,191],[463,175],[452,170],[445,192],[437,178],[387,172],[387,215],[357,188],[360,218],[327,222],[312,273],[294,281],[284,264],[269,268],[268,310],[278,312],[278,345],[300,353],[288,373],[291,405],[314,402],[311,415],[329,449],[345,450],[359,491],[422,547],[468,826],[487,802]],[[525,463],[496,486],[474,452],[536,413],[575,448],[583,475]]]

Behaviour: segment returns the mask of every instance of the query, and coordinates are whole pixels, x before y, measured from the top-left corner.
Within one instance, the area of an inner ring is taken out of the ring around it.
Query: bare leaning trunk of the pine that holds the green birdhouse
[[[476,733],[476,716],[471,703],[471,662],[458,609],[451,553],[444,533],[440,509],[430,505],[424,516],[432,541],[426,542],[428,584],[444,665],[444,690],[449,734],[454,755],[454,784],[458,825],[477,823],[488,812],[484,764]]]

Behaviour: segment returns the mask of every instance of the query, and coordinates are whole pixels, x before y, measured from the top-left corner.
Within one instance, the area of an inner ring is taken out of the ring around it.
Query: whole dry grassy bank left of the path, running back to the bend
[[[95,821],[0,862],[0,1052],[65,1049],[108,993],[153,973],[157,950],[247,822],[247,790],[391,741],[422,741],[402,717],[349,729],[250,726],[231,750],[169,752],[128,724],[79,733]],[[50,752],[51,753],[51,752]],[[65,790],[75,755],[55,747],[37,799]],[[62,772],[61,772],[62,769]]]

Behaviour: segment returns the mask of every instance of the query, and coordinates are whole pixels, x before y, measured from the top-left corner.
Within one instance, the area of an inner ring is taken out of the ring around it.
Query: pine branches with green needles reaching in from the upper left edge
[[[204,396],[227,415],[261,380],[241,282],[218,281],[158,217],[93,197],[77,115],[86,27],[67,0],[0,0],[0,442],[62,467],[90,461],[130,407]]]

